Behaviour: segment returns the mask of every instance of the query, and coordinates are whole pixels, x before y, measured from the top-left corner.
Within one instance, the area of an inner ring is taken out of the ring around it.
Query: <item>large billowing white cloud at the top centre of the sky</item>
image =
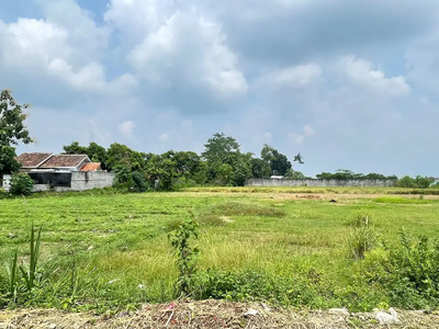
[[[221,25],[195,7],[169,3],[112,0],[105,13],[132,39],[126,59],[138,76],[159,88],[209,88],[225,98],[246,94],[247,80]]]

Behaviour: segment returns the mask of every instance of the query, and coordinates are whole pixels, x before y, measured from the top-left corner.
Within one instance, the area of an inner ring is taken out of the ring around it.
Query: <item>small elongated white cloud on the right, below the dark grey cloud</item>
[[[347,56],[341,59],[348,77],[371,90],[376,90],[391,97],[402,97],[410,93],[410,87],[403,76],[386,78],[380,70],[373,70],[368,60]]]

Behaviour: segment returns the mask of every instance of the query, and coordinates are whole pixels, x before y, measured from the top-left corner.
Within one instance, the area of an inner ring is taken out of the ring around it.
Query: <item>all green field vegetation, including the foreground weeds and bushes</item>
[[[132,309],[172,300],[177,282],[177,296],[191,298],[352,311],[434,309],[439,305],[439,202],[399,198],[423,203],[114,190],[5,198],[0,258],[8,266],[0,268],[0,304]],[[44,222],[41,238],[33,222]],[[349,241],[352,231],[365,227],[368,235]],[[399,227],[427,238],[402,238]],[[352,246],[360,246],[354,259]],[[24,277],[31,276],[30,288]]]

